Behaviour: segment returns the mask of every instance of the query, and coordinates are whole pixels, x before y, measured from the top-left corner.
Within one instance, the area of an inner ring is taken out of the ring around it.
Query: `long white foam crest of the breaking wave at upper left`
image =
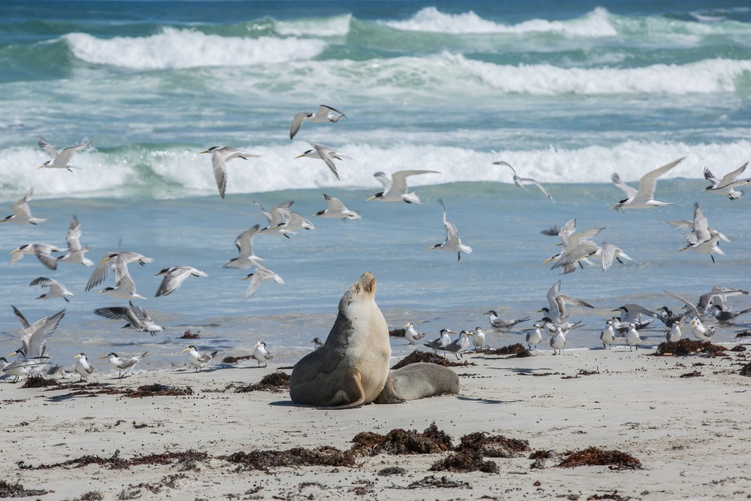
[[[139,70],[288,62],[311,59],[327,47],[315,38],[222,37],[174,28],[147,37],[104,39],[69,33],[63,38],[82,61]]]

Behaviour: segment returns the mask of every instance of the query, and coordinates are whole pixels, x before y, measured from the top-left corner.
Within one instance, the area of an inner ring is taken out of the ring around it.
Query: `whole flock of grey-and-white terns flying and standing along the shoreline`
[[[296,113],[291,122],[290,127],[290,139],[293,139],[304,122],[312,123],[336,123],[340,119],[347,118],[345,113],[342,113],[336,108],[321,104],[313,113],[301,112]],[[91,144],[90,141],[78,144],[76,146],[70,146],[58,152],[52,144],[44,139],[38,137],[38,145],[44,149],[50,160],[45,161],[44,164],[39,166],[42,168],[56,168],[66,169],[73,172],[73,169],[78,169],[71,160],[74,154],[80,149],[85,149]],[[337,169],[336,161],[343,161],[345,159],[351,159],[350,155],[338,152],[329,146],[324,146],[319,143],[309,142],[312,149],[308,149],[296,158],[313,158],[318,159],[326,164],[327,168],[340,180],[339,171]],[[212,146],[201,153],[208,153],[211,155],[213,174],[216,179],[216,186],[219,190],[221,198],[225,198],[227,190],[227,178],[228,168],[227,162],[234,158],[247,160],[249,158],[261,158],[262,155],[256,155],[254,153],[246,152],[241,149],[236,149],[232,146]],[[632,188],[632,186],[623,183],[620,176],[617,173],[612,175],[612,182],[619,189],[623,190],[626,198],[618,201],[611,208],[623,212],[623,210],[633,209],[649,209],[652,207],[660,207],[671,204],[670,202],[662,202],[655,200],[655,192],[657,180],[662,177],[677,164],[683,161],[683,158],[678,158],[675,161],[671,161],[668,164],[663,165],[660,168],[656,168],[653,171],[644,174],[639,181],[638,189]],[[540,192],[552,203],[555,203],[553,197],[542,186],[538,180],[531,177],[520,177],[517,174],[517,170],[511,166],[507,161],[496,161],[493,164],[499,166],[505,166],[511,169],[513,173],[513,181],[516,186],[526,190],[526,185],[536,186]],[[740,178],[740,175],[746,170],[747,162],[740,166],[740,168],[729,172],[717,178],[712,171],[708,168],[704,169],[704,177],[711,183],[710,186],[704,189],[706,192],[715,193],[717,195],[727,196],[731,201],[737,200],[743,197],[743,191],[738,190],[741,186],[751,183],[751,178]],[[383,202],[406,202],[407,204],[421,204],[421,199],[415,192],[409,192],[407,186],[407,178],[421,174],[438,174],[438,171],[430,170],[407,170],[397,171],[391,174],[391,177],[384,172],[376,172],[374,174],[375,180],[383,186],[383,191],[378,192],[367,201],[383,201]],[[11,205],[12,214],[0,219],[2,222],[10,222],[15,225],[39,225],[45,222],[46,219],[40,219],[32,216],[31,209],[29,207],[29,201],[32,200],[33,189],[29,189],[26,194],[14,202]],[[349,210],[347,207],[339,201],[338,198],[330,195],[323,195],[324,200],[327,203],[327,208],[318,211],[312,215],[312,217],[318,216],[322,218],[334,218],[342,219],[346,222],[348,220],[358,220],[362,216],[359,212]],[[273,281],[277,284],[283,285],[285,282],[281,276],[274,273],[272,270],[261,264],[259,261],[264,261],[264,258],[255,255],[253,250],[253,238],[257,234],[266,235],[283,235],[287,238],[290,235],[296,234],[296,231],[300,230],[313,230],[316,226],[306,219],[304,216],[294,213],[290,207],[294,202],[288,201],[282,204],[278,204],[272,207],[271,210],[265,210],[261,204],[254,202],[261,209],[261,213],[267,219],[267,225],[261,228],[261,225],[254,225],[249,230],[243,231],[235,240],[235,246],[237,246],[237,258],[233,258],[228,261],[223,267],[225,269],[249,269],[255,267],[252,273],[248,273],[243,276],[242,279],[249,279],[250,284],[247,288],[246,294],[243,296],[243,300],[248,300],[258,293],[261,287],[261,282]],[[472,254],[472,248],[463,244],[459,237],[457,227],[448,221],[446,216],[446,207],[442,200],[439,200],[442,208],[442,222],[445,228],[445,240],[442,243],[436,243],[430,246],[429,249],[442,250],[445,252],[455,252],[457,254],[457,261],[460,261],[462,253],[468,255]],[[680,251],[691,250],[693,252],[699,252],[710,255],[711,260],[714,262],[714,255],[725,255],[719,248],[720,240],[729,242],[724,234],[710,228],[707,222],[707,216],[704,211],[701,210],[699,204],[694,205],[693,219],[692,220],[664,220],[674,228],[678,228],[683,231],[689,231],[686,234],[686,246],[680,249]],[[567,222],[566,225],[558,228],[551,228],[550,230],[543,231],[542,233],[559,237],[562,246],[562,251],[553,255],[551,258],[544,261],[549,263],[553,261],[552,269],[560,268],[562,274],[573,273],[578,268],[584,268],[584,264],[593,265],[593,260],[600,261],[600,267],[602,271],[608,270],[609,267],[618,261],[623,264],[624,260],[632,261],[632,258],[623,252],[622,249],[615,246],[612,243],[603,241],[601,244],[596,243],[593,237],[596,237],[605,228],[593,228],[590,230],[578,231],[576,228],[576,219],[572,219]],[[66,248],[59,248],[48,243],[25,243],[16,249],[11,251],[11,261],[8,264],[14,264],[20,261],[25,255],[35,255],[38,260],[44,264],[45,267],[50,270],[56,270],[59,263],[63,264],[83,264],[85,267],[92,267],[94,263],[86,258],[86,252],[89,248],[82,246],[80,238],[82,237],[81,225],[78,222],[76,216],[72,216],[71,224],[68,228],[68,234],[66,235]],[[152,263],[151,258],[147,258],[137,252],[126,252],[118,249],[117,252],[107,252],[101,261],[96,265],[89,282],[86,285],[86,291],[92,290],[96,286],[108,279],[110,272],[113,273],[115,278],[115,286],[107,287],[99,291],[101,294],[109,294],[111,297],[118,299],[128,300],[128,306],[114,306],[107,308],[98,308],[95,310],[95,314],[104,318],[110,318],[115,320],[124,320],[127,323],[125,327],[130,327],[141,332],[148,332],[151,335],[164,330],[164,327],[156,324],[149,314],[133,303],[133,300],[145,299],[145,297],[137,294],[136,285],[128,272],[128,264],[137,263],[141,266]],[[206,277],[208,274],[205,271],[198,270],[191,266],[170,266],[165,267],[158,273],[157,276],[163,275],[161,284],[159,285],[155,297],[168,296],[173,294],[179,289],[186,279],[191,276]],[[75,297],[75,294],[68,291],[65,285],[48,277],[40,276],[33,279],[29,284],[30,286],[39,286],[47,291],[41,294],[37,299],[55,299],[62,298],[66,302],[70,302],[68,297]],[[553,349],[553,355],[562,353],[562,349],[566,345],[566,335],[578,327],[582,327],[581,321],[572,323],[569,321],[571,314],[566,312],[566,305],[581,306],[587,308],[594,308],[590,303],[584,300],[579,300],[574,297],[570,297],[566,294],[560,294],[561,281],[559,280],[554,284],[547,292],[547,306],[544,306],[538,312],[542,313],[542,318],[533,324],[532,329],[526,330],[526,343],[529,350],[534,351],[539,343],[543,340],[543,334],[547,334],[550,337],[549,344]],[[715,332],[714,325],[704,324],[708,319],[713,318],[716,322],[730,322],[734,318],[743,315],[747,312],[751,312],[751,308],[743,309],[740,312],[734,312],[728,307],[727,297],[744,294],[748,295],[748,291],[743,291],[737,288],[723,288],[715,286],[712,291],[707,294],[703,294],[697,304],[691,303],[689,300],[680,297],[677,294],[665,291],[668,297],[680,300],[684,304],[685,312],[674,315],[668,306],[662,306],[662,309],[653,311],[637,304],[627,304],[620,306],[620,316],[614,316],[608,318],[605,323],[605,328],[600,334],[600,340],[603,348],[612,347],[614,344],[618,344],[618,338],[621,338],[620,344],[629,346],[629,349],[638,349],[641,343],[641,337],[638,329],[649,327],[653,320],[662,321],[665,324],[665,339],[669,342],[677,342],[683,336],[681,327],[691,328],[692,333],[698,340],[710,340]],[[2,363],[2,375],[14,376],[17,381],[21,376],[30,375],[42,375],[42,376],[54,376],[59,374],[62,367],[56,366],[50,363],[49,348],[47,346],[47,338],[49,338],[54,330],[58,327],[60,321],[65,316],[65,309],[57,312],[50,317],[44,317],[36,321],[34,324],[29,324],[26,321],[23,314],[13,307],[14,314],[17,316],[21,324],[21,341],[22,347],[17,349],[11,356],[19,355],[13,362],[8,362],[6,358],[0,358]],[[502,320],[498,317],[496,311],[489,310],[486,312],[489,317],[490,330],[493,331],[507,331],[515,327],[521,322],[528,321],[530,316],[519,318],[516,320]],[[689,321],[689,317],[691,318]],[[405,326],[405,337],[411,345],[417,345],[418,342],[424,338],[427,334],[418,333],[415,330],[415,324],[412,322]],[[475,327],[474,330],[462,330],[459,337],[455,340],[451,340],[449,334],[454,331],[444,328],[440,331],[439,337],[429,343],[424,343],[429,349],[436,350],[436,352],[453,353],[457,358],[462,356],[462,352],[469,349],[469,338],[472,337],[472,345],[475,350],[483,349],[486,346],[486,333],[481,327]],[[318,349],[323,346],[324,342],[321,342],[318,338],[312,341],[314,343],[314,349]],[[273,355],[267,351],[266,343],[260,341],[253,346],[254,352],[252,357],[258,361],[258,366],[267,364],[267,361],[273,358]],[[195,348],[195,346],[189,346],[183,352],[189,352],[189,361],[196,367],[196,371],[204,369],[207,364],[216,357],[217,352],[201,354]],[[126,373],[132,371],[136,364],[140,362],[149,352],[145,352],[141,355],[135,355],[131,357],[121,357],[114,352],[102,356],[101,358],[107,358],[110,364],[118,371],[119,377],[122,377]],[[94,368],[89,364],[88,358],[84,353],[80,353],[75,357],[77,364],[74,367],[74,371],[80,375],[81,380],[87,379],[94,372]],[[62,371],[64,373],[64,371]]]

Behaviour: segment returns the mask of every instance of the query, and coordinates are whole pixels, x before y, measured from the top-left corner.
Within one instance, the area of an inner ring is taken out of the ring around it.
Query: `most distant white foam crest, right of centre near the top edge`
[[[462,14],[444,14],[435,7],[426,7],[403,21],[382,21],[394,29],[409,32],[451,33],[532,33],[550,32],[580,37],[611,37],[617,31],[611,23],[610,14],[604,8],[596,8],[584,17],[568,21],[535,19],[514,25],[485,20],[473,11]]]

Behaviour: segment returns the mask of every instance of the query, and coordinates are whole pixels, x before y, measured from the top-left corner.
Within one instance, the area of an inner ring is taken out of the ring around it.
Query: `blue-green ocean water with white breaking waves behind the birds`
[[[695,300],[713,285],[749,289],[751,197],[701,192],[705,167],[722,176],[751,160],[749,32],[743,2],[2,3],[0,207],[10,214],[33,188],[32,212],[47,221],[0,225],[0,249],[10,258],[22,243],[64,246],[76,215],[92,260],[121,241],[154,259],[131,275],[149,297],[140,306],[167,330],[150,337],[93,315],[125,302],[85,292],[90,269],[47,270],[26,256],[0,267],[0,349],[19,344],[14,304],[30,321],[68,308],[50,339],[53,361],[66,366],[82,351],[148,350],[149,370],[183,364],[190,342],[176,338],[189,327],[201,330],[201,351],[243,355],[264,340],[275,361],[293,364],[326,336],[339,297],[365,270],[391,327],[420,322],[427,340],[442,327],[487,326],[488,309],[538,315],[562,279],[563,293],[596,306],[572,309],[586,324],[569,335],[574,349],[596,348],[623,303],[679,309],[663,291]],[[321,103],[347,118],[307,122],[289,140],[294,113]],[[78,170],[38,170],[47,154],[37,136],[59,149],[92,146],[74,156]],[[308,141],[351,155],[337,162],[341,181],[321,161],[295,159]],[[228,163],[224,200],[209,155],[198,154],[210,146],[263,155]],[[613,172],[635,186],[680,157],[656,195],[673,204],[609,210],[623,198]],[[498,160],[544,183],[555,204],[514,186]],[[439,172],[409,178],[424,204],[366,202],[382,191],[373,173],[405,169]],[[290,239],[258,235],[256,254],[285,285],[264,282],[243,302],[249,271],[222,265],[238,234],[264,225],[253,201],[294,201],[311,216],[323,193],[363,219],[314,218],[318,228]],[[427,250],[445,237],[439,199],[473,249],[458,262]],[[695,202],[732,240],[715,264],[678,252],[683,234],[660,221],[692,219]],[[550,270],[542,261],[559,247],[540,231],[569,219],[605,227],[596,240],[634,261],[605,273]],[[209,276],[153,297],[154,274],[179,264]],[[76,297],[36,300],[28,284],[38,276]],[[742,318],[716,339],[733,340]],[[646,330],[644,344],[661,332]],[[488,335],[491,346],[519,340],[519,331]],[[392,345],[394,355],[414,349]]]

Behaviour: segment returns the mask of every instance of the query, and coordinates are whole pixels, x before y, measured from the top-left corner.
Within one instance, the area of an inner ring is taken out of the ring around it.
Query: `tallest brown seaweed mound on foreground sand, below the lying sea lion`
[[[377,454],[439,454],[450,451],[453,446],[451,437],[439,430],[435,423],[430,424],[423,433],[418,430],[397,428],[385,435],[363,431],[352,439],[354,445],[349,451],[357,456],[375,456]]]

